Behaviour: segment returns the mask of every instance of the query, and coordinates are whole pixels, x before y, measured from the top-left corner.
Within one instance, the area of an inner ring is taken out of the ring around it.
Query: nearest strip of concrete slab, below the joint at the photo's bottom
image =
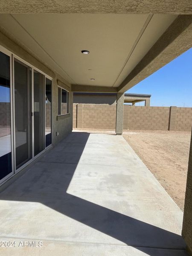
[[[7,241],[1,239],[2,241]],[[23,239],[15,239],[16,244],[23,244]],[[30,242],[38,241],[29,240]],[[46,256],[187,256],[183,250],[169,250],[169,249],[157,249],[149,247],[131,247],[131,246],[120,246],[113,244],[86,244],[86,243],[71,243],[71,242],[62,242],[62,241],[43,241],[44,248],[42,247],[29,248],[26,247],[25,253],[23,253],[23,247],[10,247],[9,249],[3,250],[3,256],[10,255],[19,255],[19,256],[37,256],[37,255],[46,255]],[[56,249],[55,249],[56,248]],[[46,254],[44,253],[46,251]],[[29,254],[30,253],[30,254]]]

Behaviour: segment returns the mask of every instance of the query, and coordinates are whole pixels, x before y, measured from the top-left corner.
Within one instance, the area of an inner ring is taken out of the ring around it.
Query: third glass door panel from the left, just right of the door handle
[[[34,156],[45,148],[45,76],[34,70]]]

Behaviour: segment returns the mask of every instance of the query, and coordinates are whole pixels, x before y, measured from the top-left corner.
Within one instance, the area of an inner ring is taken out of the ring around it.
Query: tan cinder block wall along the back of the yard
[[[115,129],[116,105],[73,104],[73,128]],[[192,108],[124,105],[124,130],[190,131]]]

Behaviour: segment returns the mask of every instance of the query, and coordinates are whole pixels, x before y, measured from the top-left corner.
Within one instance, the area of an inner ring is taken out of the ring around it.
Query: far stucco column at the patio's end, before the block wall
[[[116,135],[121,135],[123,130],[123,105],[124,93],[116,94]]]

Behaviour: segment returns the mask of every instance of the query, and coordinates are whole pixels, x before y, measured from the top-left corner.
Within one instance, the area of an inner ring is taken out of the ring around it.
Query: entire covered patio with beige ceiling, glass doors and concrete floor
[[[192,144],[183,218],[121,136],[125,91],[191,47],[190,0],[1,1],[3,255],[192,255]],[[71,133],[87,92],[116,94],[119,136]]]

